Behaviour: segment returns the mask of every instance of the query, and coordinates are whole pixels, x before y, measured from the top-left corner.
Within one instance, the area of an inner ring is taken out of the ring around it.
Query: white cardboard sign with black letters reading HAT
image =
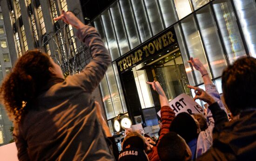
[[[194,113],[205,115],[203,108],[185,93],[178,95],[175,99],[170,101],[169,106],[173,109],[175,115],[181,112],[187,112],[190,115]],[[157,114],[161,117],[161,111],[158,111]]]

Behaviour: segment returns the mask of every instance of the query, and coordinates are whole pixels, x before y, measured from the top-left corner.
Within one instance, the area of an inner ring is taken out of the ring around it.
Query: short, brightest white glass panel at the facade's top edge
[[[189,13],[192,12],[192,7],[189,3],[189,0],[174,0],[174,4],[179,19],[182,19],[183,17],[187,16]]]

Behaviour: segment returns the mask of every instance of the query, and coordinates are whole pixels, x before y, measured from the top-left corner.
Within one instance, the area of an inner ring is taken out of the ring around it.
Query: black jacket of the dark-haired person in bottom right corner
[[[211,111],[219,111],[215,105]],[[214,116],[214,114],[213,114]],[[218,116],[218,115],[217,115]],[[256,110],[241,112],[230,122],[219,118],[213,131],[213,146],[197,161],[255,161],[256,160]]]

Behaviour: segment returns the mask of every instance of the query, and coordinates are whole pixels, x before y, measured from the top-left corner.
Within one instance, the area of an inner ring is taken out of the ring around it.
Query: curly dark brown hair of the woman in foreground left
[[[11,119],[20,121],[29,111],[40,89],[52,77],[48,70],[52,66],[50,58],[39,50],[27,51],[18,59],[0,87],[2,103]]]

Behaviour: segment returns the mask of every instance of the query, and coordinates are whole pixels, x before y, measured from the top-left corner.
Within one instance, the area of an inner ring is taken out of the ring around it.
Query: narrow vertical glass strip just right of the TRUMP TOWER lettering
[[[191,86],[195,86],[195,81],[193,78],[193,74],[192,74],[192,69],[189,65],[189,57],[188,57],[188,53],[187,50],[185,48],[185,44],[184,44],[184,40],[182,38],[182,33],[181,33],[181,29],[180,26],[178,24],[174,25],[175,28],[175,33],[176,33],[176,37],[178,40],[178,44],[180,46],[180,50],[181,50],[181,54],[182,54],[182,59],[183,59],[183,63],[185,66],[185,70],[189,79],[189,85]]]

